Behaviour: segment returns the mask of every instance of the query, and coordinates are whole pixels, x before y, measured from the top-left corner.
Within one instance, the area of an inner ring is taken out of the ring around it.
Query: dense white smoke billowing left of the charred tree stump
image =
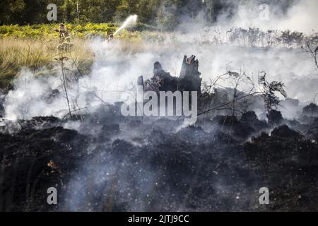
[[[94,112],[106,102],[120,101],[122,92],[131,89],[139,75],[152,71],[153,53],[125,54],[120,51],[121,45],[121,42],[110,44],[100,39],[92,40],[91,47],[96,55],[92,72],[67,87],[72,111]],[[4,102],[7,119],[49,115],[64,117],[69,112],[59,65],[56,73],[43,77],[36,77],[22,69],[14,86]],[[59,90],[59,93],[52,95],[54,90]]]

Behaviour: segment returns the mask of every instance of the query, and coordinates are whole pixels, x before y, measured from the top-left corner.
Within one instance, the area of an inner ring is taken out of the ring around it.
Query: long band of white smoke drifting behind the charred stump
[[[198,35],[196,37],[200,38]],[[183,42],[183,38],[187,38],[187,41]],[[101,99],[110,103],[120,101],[123,91],[134,88],[138,76],[151,78],[155,61],[160,61],[172,76],[179,76],[183,55],[192,53],[200,61],[199,71],[203,81],[214,79],[227,71],[245,71],[257,83],[259,71],[266,71],[271,81],[285,83],[288,97],[308,102],[317,93],[317,69],[312,59],[300,49],[206,44],[189,38],[190,35],[183,36],[177,43],[171,40],[162,44],[145,43],[141,49],[132,50],[134,52],[122,51],[124,43],[117,40],[112,43],[92,40],[91,46],[96,54],[92,71],[89,76],[79,78],[78,85],[69,87],[71,100],[76,99],[76,107],[89,111],[102,105]],[[58,76],[59,71],[57,66]],[[220,81],[219,84],[231,87],[227,81]],[[240,87],[241,90],[245,88]],[[67,114],[64,95],[62,92],[50,95],[52,90],[59,89],[61,82],[58,78],[35,78],[30,71],[23,69],[15,83],[15,90],[11,90],[6,97],[6,117],[63,117]]]

